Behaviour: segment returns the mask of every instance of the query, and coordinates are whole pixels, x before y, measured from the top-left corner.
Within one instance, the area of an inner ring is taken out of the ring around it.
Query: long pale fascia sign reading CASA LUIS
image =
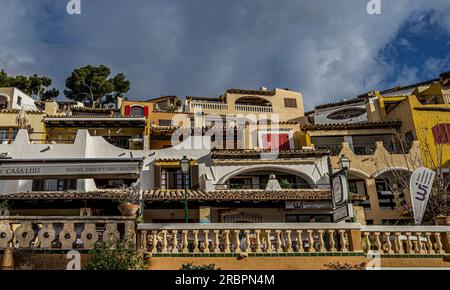
[[[2,164],[0,178],[139,174],[138,162]]]

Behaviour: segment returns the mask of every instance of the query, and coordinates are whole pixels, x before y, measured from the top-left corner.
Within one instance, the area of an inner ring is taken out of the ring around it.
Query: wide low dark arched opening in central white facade
[[[282,189],[305,189],[312,188],[312,184],[307,177],[300,173],[293,173],[280,169],[254,169],[241,172],[228,178],[225,185],[228,189],[266,189],[269,176],[275,174],[275,177]]]

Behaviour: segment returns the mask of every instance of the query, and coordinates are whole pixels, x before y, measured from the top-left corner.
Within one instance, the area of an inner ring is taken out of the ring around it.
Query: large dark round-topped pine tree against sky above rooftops
[[[110,74],[111,70],[104,65],[77,68],[67,78],[64,94],[68,99],[94,108],[115,103],[118,97],[130,90],[130,81],[123,73],[112,78]]]

